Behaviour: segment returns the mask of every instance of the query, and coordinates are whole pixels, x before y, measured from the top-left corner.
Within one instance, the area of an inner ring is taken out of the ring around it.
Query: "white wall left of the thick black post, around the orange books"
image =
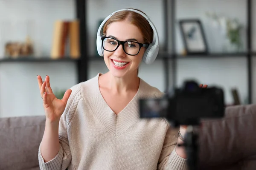
[[[3,42],[25,40],[26,21],[36,57],[49,57],[55,20],[75,18],[73,0],[1,0],[0,58]],[[52,88],[67,89],[77,82],[74,62],[0,62],[0,117],[44,115],[36,76],[50,76]]]

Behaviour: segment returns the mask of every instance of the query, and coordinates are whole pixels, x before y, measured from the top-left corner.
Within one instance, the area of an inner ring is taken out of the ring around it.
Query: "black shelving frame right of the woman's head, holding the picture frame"
[[[219,58],[219,57],[246,57],[247,58],[247,76],[248,76],[248,103],[252,103],[252,68],[251,68],[251,58],[253,55],[256,53],[251,50],[251,35],[252,35],[252,2],[251,0],[247,0],[247,50],[248,52],[245,53],[227,53],[227,54],[222,54],[222,53],[216,53],[216,54],[204,54],[204,55],[187,55],[186,57],[183,57],[180,54],[177,54],[175,49],[176,49],[176,39],[175,39],[175,23],[176,23],[176,0],[171,0],[171,3],[168,3],[168,0],[164,0],[163,3],[164,7],[164,14],[166,16],[165,18],[165,28],[168,27],[168,10],[170,9],[172,11],[172,16],[171,16],[171,25],[172,25],[172,52],[173,54],[170,54],[172,56],[172,87],[175,88],[177,87],[177,59],[188,59],[188,58]],[[166,30],[166,35],[169,35],[169,32]],[[167,44],[168,40],[165,40],[165,44]],[[167,47],[165,48],[167,49]],[[166,64],[166,59],[164,61],[164,67],[165,67],[165,77],[166,77],[166,88],[169,87],[169,64]]]

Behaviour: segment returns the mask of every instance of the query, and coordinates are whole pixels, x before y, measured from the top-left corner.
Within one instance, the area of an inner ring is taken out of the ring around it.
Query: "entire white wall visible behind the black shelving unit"
[[[218,51],[216,30],[210,27],[204,12],[216,11],[230,17],[239,17],[246,25],[246,3],[241,0],[176,0],[177,19],[183,17],[198,17],[202,20],[211,51]],[[95,40],[98,21],[111,12],[121,8],[139,8],[151,17],[157,27],[160,45],[164,40],[163,3],[161,0],[87,0],[87,29],[90,49],[88,55],[95,54]],[[3,40],[15,35],[15,27],[10,29],[6,22],[33,20],[32,29],[36,44],[36,57],[47,57],[52,42],[52,25],[58,19],[73,19],[75,6],[72,0],[1,0],[0,1],[0,54],[3,53]],[[253,4],[254,8],[256,7]],[[239,12],[238,12],[239,11]],[[253,13],[253,16],[256,14]],[[20,26],[24,22],[19,22]],[[19,25],[19,24],[18,24]],[[255,28],[256,22],[253,23]],[[25,26],[23,26],[25,27]],[[7,32],[3,32],[7,29]],[[16,28],[17,30],[17,28]],[[254,30],[254,29],[252,29]],[[171,31],[171,30],[170,30]],[[177,30],[178,31],[178,30]],[[22,31],[19,31],[23,35]],[[24,32],[24,31],[23,31]],[[6,36],[8,35],[8,36]],[[17,37],[17,34],[15,35]],[[256,38],[256,34],[253,34]],[[256,49],[256,43],[253,41]],[[180,33],[177,32],[177,51],[182,49]],[[1,51],[2,50],[2,51]],[[2,55],[0,55],[1,57]],[[170,61],[171,65],[171,61]],[[256,60],[253,60],[253,76],[256,74]],[[154,68],[152,68],[154,67]],[[170,69],[171,70],[171,69]],[[89,78],[97,73],[107,72],[103,61],[90,61]],[[237,87],[241,98],[247,98],[247,68],[245,57],[223,57],[218,59],[180,59],[177,63],[177,78],[180,85],[186,78],[195,78],[208,85],[219,85],[225,90],[225,100],[232,102],[230,88]],[[36,75],[50,75],[51,85],[59,88],[70,88],[76,84],[76,65],[73,62],[63,63],[0,63],[0,117],[42,115],[44,114],[41,97],[38,91]],[[170,71],[171,74],[171,71]],[[139,72],[149,84],[164,90],[163,62],[157,60],[153,65],[142,63]],[[253,79],[253,83],[256,81]],[[253,102],[256,101],[256,91],[253,91]]]

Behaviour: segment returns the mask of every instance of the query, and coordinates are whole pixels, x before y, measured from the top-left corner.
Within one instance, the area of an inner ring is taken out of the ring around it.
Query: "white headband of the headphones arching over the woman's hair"
[[[136,12],[136,13],[142,15],[142,16],[148,21],[148,23],[150,24],[151,28],[153,29],[153,41],[152,41],[152,44],[155,44],[155,45],[158,46],[159,38],[158,38],[158,33],[157,33],[156,27],[154,26],[154,24],[151,22],[151,20],[148,18],[147,15],[143,14],[143,13],[140,12],[140,11],[134,10],[134,9],[120,9],[120,10],[115,11],[115,12],[113,12],[112,14],[108,15],[108,17],[106,17],[105,20],[103,20],[103,22],[102,22],[101,25],[99,26],[99,29],[98,29],[98,32],[97,32],[97,36],[101,36],[103,26],[105,25],[105,23],[107,22],[107,20],[108,20],[110,17],[112,17],[113,14],[115,14],[116,12],[119,12],[119,11],[134,11],[134,12]]]

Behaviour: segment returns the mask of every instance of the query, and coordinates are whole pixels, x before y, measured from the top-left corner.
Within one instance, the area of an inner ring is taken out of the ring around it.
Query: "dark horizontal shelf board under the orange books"
[[[51,59],[50,57],[34,58],[34,57],[20,57],[17,59],[12,58],[3,58],[0,59],[1,62],[73,62],[78,61],[79,59],[72,58],[62,58],[62,59]]]

